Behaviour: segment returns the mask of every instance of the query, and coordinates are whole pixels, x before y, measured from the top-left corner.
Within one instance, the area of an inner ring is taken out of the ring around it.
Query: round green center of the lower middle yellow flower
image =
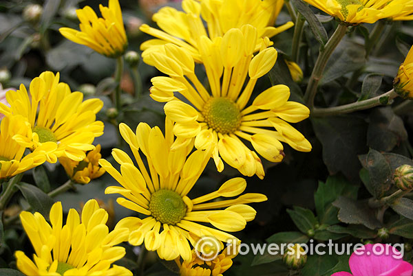
[[[187,214],[187,205],[177,192],[160,189],[151,195],[149,211],[159,222],[176,225]]]

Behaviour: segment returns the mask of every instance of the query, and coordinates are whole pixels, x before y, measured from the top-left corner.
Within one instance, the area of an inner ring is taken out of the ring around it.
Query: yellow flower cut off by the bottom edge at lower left
[[[33,259],[16,251],[17,268],[28,276],[131,276],[123,266],[111,265],[125,255],[125,248],[114,246],[127,239],[128,229],[112,232],[105,225],[107,212],[96,200],[87,201],[81,217],[70,209],[66,225],[60,202],[50,209],[50,222],[39,213],[22,211],[21,224],[32,242]]]

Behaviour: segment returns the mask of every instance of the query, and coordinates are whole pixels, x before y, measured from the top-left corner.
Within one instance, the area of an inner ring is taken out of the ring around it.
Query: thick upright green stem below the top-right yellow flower
[[[339,24],[334,34],[332,34],[332,36],[326,43],[324,49],[320,48],[319,56],[317,58],[317,61],[315,62],[313,73],[311,73],[306,93],[304,94],[304,102],[306,102],[307,106],[310,109],[312,109],[314,106],[314,98],[315,94],[317,93],[317,86],[319,84],[319,81],[321,80],[321,76],[323,75],[324,68],[326,67],[328,59],[330,58],[337,45],[339,45],[341,39],[344,37],[344,35],[346,35],[347,28],[347,25]]]

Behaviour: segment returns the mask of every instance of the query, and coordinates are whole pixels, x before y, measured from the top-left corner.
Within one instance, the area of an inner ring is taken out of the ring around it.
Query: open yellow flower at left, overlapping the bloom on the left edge
[[[50,71],[30,82],[30,96],[21,84],[18,91],[6,94],[10,107],[0,103],[0,113],[21,115],[28,122],[27,132],[13,139],[31,150],[45,142],[55,143],[56,150],[47,154],[51,163],[56,163],[58,157],[85,159],[85,151],[94,149],[94,138],[103,134],[103,122],[96,121],[103,102],[83,102],[83,93],[70,91],[69,85],[59,82],[59,73],[54,76]]]

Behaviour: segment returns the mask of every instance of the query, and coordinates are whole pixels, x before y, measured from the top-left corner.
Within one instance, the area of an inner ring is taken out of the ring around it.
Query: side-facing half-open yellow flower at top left
[[[98,18],[88,5],[76,10],[81,31],[61,27],[65,38],[94,49],[109,58],[121,56],[127,48],[127,37],[123,25],[122,10],[118,0],[109,0],[109,7],[99,5],[103,18]]]

